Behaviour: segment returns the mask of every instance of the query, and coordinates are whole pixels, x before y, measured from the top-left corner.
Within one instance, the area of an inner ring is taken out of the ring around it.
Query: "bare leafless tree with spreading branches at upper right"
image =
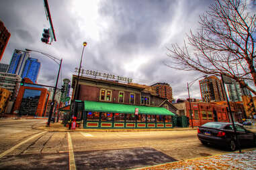
[[[256,95],[247,82],[256,86],[256,15],[243,0],[216,0],[200,15],[200,29],[187,35],[181,48],[172,44],[170,68],[196,70],[204,74],[223,74],[233,78]],[[251,4],[252,5],[252,4]],[[253,37],[253,35],[255,37]]]

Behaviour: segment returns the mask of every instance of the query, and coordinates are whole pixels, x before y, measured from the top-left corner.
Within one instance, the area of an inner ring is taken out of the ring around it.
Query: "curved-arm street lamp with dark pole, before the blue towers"
[[[25,50],[27,52],[37,52],[37,53],[43,54],[44,56],[54,60],[54,62],[56,62],[56,64],[59,65],[58,76],[60,75],[60,68],[61,68],[61,64],[62,64],[62,59],[55,58],[54,56],[51,56],[50,54],[46,54],[44,52],[38,52],[36,50],[29,50],[29,49],[25,49]],[[55,98],[56,89],[57,89],[57,86],[58,86],[58,76],[57,76],[57,79],[56,79],[56,84],[55,84],[53,95],[52,95],[52,102],[50,103],[50,112],[49,112],[49,115],[48,115],[48,122],[47,122],[46,126],[50,126],[50,119],[52,118],[52,112],[53,112],[53,107],[54,107],[54,98]]]

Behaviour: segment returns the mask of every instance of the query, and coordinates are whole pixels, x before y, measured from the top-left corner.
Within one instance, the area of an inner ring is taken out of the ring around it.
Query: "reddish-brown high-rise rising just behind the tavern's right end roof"
[[[173,91],[169,84],[158,82],[151,87],[161,98],[167,98],[170,101],[173,100]]]

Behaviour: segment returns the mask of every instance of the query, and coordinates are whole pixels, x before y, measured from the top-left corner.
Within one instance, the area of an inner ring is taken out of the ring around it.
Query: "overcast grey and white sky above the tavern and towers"
[[[187,82],[202,76],[165,66],[167,48],[182,44],[189,30],[198,29],[199,15],[214,1],[204,0],[48,0],[56,41],[40,41],[50,27],[43,0],[1,0],[0,19],[11,33],[1,63],[9,64],[13,50],[38,50],[62,58],[60,78],[72,78],[79,67],[125,76],[138,84],[167,82],[174,98],[187,98]],[[54,86],[58,64],[32,53],[41,62],[38,84]],[[62,82],[59,83],[61,86]],[[201,98],[199,83],[191,97]]]

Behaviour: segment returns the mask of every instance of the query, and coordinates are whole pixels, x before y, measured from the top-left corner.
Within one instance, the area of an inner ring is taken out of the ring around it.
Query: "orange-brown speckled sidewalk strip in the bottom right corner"
[[[242,153],[225,153],[151,167],[142,167],[136,170],[138,169],[256,169],[256,149],[243,150]]]

